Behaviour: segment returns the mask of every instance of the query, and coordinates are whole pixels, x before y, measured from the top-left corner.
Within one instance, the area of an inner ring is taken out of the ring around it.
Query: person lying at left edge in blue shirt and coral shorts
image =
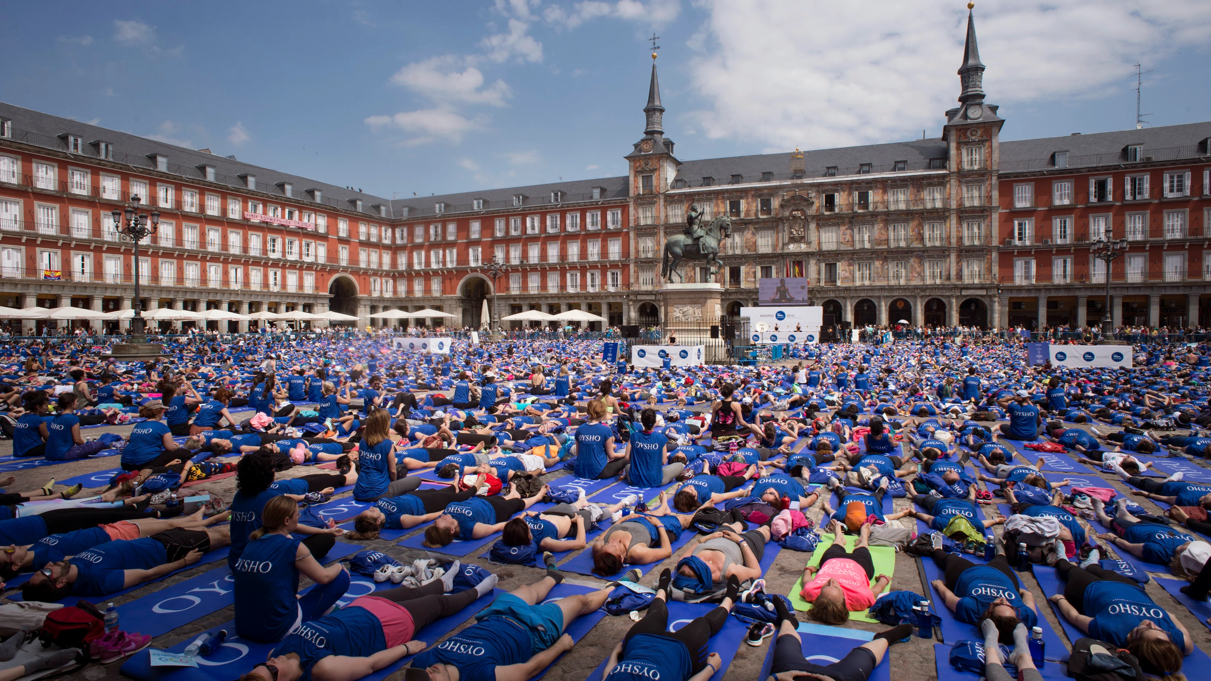
[[[202,515],[203,509],[197,509],[197,513],[189,516],[163,520],[147,516],[119,520],[96,527],[50,534],[31,544],[0,546],[0,580],[12,579],[22,572],[41,570],[48,562],[61,561],[64,557],[74,556],[85,549],[99,546],[107,542],[139,539],[177,527],[200,530],[224,520],[222,515],[214,515],[208,519],[202,517]],[[45,517],[45,514],[41,517]]]

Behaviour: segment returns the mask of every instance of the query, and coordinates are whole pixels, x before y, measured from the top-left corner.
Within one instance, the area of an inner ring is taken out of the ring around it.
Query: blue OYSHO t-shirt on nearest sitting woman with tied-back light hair
[[[298,539],[279,533],[249,542],[231,568],[235,631],[241,639],[281,641],[298,618]]]

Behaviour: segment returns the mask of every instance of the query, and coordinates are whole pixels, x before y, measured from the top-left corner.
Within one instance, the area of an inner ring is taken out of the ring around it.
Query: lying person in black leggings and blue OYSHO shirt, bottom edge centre
[[[656,597],[648,605],[643,619],[632,624],[610,652],[604,681],[707,681],[723,668],[719,653],[707,654],[707,648],[711,637],[728,622],[740,595],[740,580],[728,578],[728,590],[719,606],[676,631],[668,630],[671,582],[672,572],[666,567],[656,583]]]

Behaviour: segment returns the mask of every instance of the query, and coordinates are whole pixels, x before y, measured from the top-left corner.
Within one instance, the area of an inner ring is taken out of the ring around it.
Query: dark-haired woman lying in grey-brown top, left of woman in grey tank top
[[[672,543],[690,526],[694,515],[682,515],[670,510],[666,492],[661,492],[659,500],[653,505],[655,508],[649,508],[644,514],[619,517],[613,527],[592,540],[590,546],[593,574],[609,577],[621,572],[627,563],[647,565],[673,555]],[[702,505],[713,507],[714,502],[706,502]],[[639,571],[632,572],[638,579]]]

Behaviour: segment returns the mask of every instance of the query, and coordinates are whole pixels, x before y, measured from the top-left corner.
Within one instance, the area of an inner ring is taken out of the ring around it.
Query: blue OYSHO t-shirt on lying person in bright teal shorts
[[[495,681],[497,666],[528,660],[532,647],[530,633],[522,624],[507,617],[488,617],[425,649],[412,665],[425,669],[449,664],[458,668],[460,681]]]

